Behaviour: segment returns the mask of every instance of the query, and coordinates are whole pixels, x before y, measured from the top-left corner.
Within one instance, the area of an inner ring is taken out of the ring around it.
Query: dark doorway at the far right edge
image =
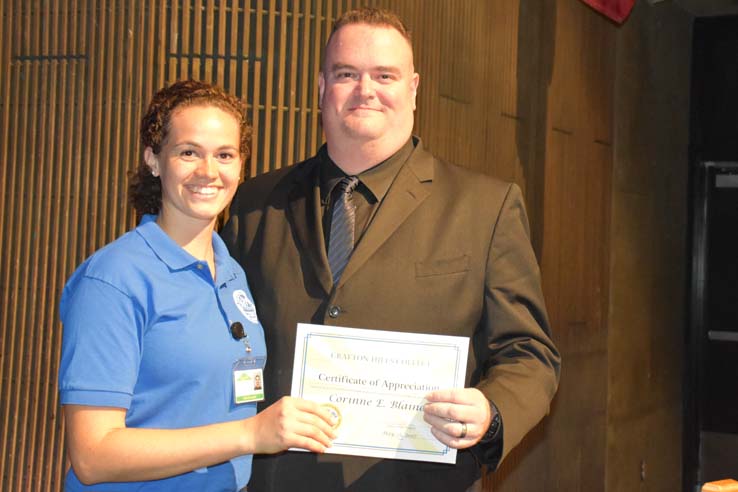
[[[695,21],[684,490],[738,479],[738,17]]]

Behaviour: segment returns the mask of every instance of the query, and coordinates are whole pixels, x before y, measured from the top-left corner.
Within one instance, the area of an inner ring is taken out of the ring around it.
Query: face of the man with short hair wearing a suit
[[[413,129],[418,80],[410,44],[397,30],[349,24],[336,31],[318,80],[329,146],[336,139],[402,145]]]

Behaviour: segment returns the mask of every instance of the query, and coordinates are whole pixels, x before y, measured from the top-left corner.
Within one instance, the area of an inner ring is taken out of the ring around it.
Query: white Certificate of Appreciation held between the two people
[[[339,419],[327,453],[456,463],[423,420],[426,394],[463,388],[468,337],[297,325],[292,396]]]

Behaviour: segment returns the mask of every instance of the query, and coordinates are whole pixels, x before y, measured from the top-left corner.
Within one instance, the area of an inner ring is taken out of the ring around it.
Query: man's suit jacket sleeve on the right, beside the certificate
[[[485,361],[476,387],[498,408],[497,438],[472,451],[497,468],[549,410],[561,359],[551,339],[541,277],[522,194],[510,185],[491,233],[484,314],[475,336]]]

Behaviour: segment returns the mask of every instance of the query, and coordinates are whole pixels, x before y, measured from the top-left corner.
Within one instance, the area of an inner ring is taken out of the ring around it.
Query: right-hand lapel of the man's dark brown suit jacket
[[[346,283],[405,222],[413,210],[423,203],[423,200],[430,195],[430,187],[424,183],[432,180],[433,157],[424,151],[419,143],[400,172],[397,173],[377,214],[356,245],[338,281],[339,286]]]

